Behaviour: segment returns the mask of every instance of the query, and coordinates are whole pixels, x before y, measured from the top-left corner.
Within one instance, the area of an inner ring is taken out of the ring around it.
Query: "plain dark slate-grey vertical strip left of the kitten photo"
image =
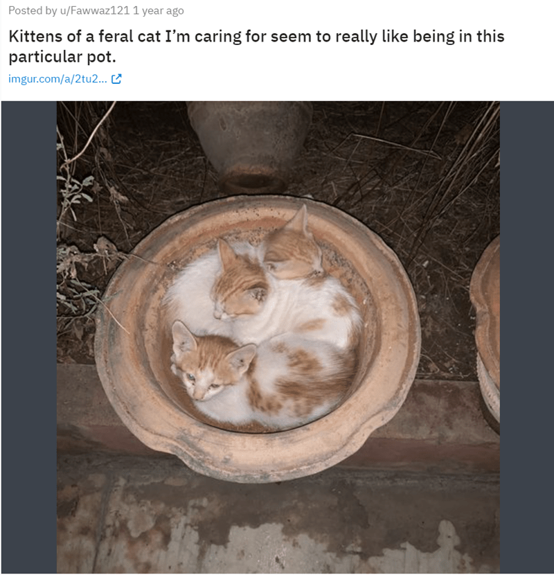
[[[55,142],[55,102],[2,102],[3,573],[56,572]]]

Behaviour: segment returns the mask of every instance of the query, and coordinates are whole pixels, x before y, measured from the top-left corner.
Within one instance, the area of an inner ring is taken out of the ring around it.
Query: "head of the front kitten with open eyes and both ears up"
[[[195,337],[179,320],[172,335],[171,371],[195,401],[207,401],[237,384],[256,355],[254,344],[238,348],[227,337]]]

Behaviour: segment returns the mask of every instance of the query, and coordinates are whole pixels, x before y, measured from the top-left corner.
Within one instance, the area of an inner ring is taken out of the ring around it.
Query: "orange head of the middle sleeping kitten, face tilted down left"
[[[247,256],[235,254],[224,240],[219,241],[218,249],[222,271],[211,293],[214,317],[226,320],[259,312],[269,293],[264,269]]]

